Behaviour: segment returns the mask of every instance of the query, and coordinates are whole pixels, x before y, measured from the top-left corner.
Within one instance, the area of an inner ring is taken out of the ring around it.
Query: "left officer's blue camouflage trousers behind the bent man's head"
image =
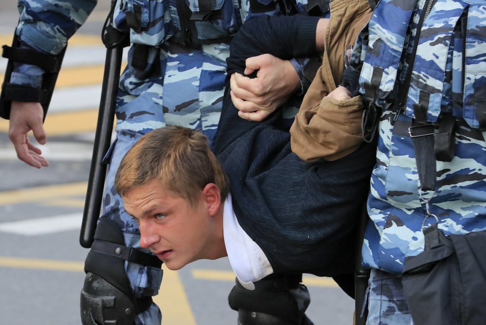
[[[127,247],[140,249],[140,231],[114,189],[121,159],[143,134],[166,125],[200,129],[211,139],[221,114],[228,55],[227,44],[205,45],[202,50],[186,53],[164,47],[160,54],[163,77],[154,75],[140,80],[130,68],[122,74],[116,108],[117,135],[104,159],[109,167],[100,218],[118,225]],[[162,269],[132,262],[125,262],[125,269],[136,298],[158,294]],[[137,315],[135,324],[160,325],[161,321],[159,307],[152,304]]]

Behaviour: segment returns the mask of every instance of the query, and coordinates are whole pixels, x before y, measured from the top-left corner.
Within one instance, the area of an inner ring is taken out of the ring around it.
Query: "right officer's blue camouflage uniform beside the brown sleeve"
[[[446,235],[486,229],[486,4],[381,0],[353,62],[364,102],[381,111],[362,248],[372,268],[369,324],[410,324],[401,273],[405,257],[424,249],[422,227],[436,217]],[[447,116],[456,120],[455,151],[436,161],[426,188],[408,128],[423,119],[437,129]]]

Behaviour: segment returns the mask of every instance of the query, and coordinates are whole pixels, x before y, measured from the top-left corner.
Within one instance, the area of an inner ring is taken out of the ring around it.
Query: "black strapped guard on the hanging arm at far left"
[[[51,102],[52,93],[59,74],[59,69],[63,62],[66,47],[58,55],[42,54],[35,50],[20,48],[20,41],[14,35],[12,46],[4,45],[2,57],[8,59],[5,77],[1,86],[0,94],[0,117],[8,119],[10,117],[10,105],[12,101],[38,102],[44,110],[44,119]],[[14,63],[36,65],[42,68],[45,73],[42,78],[40,88],[27,85],[10,83],[10,76],[13,71]]]

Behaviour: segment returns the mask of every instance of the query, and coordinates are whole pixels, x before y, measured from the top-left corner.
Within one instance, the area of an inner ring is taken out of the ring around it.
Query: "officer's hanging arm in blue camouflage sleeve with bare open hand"
[[[68,39],[84,23],[95,4],[96,0],[19,0],[20,18],[15,30],[19,47],[44,55],[59,56]],[[42,89],[42,69],[15,63],[15,58],[10,60],[14,61],[14,68],[11,76],[5,75],[5,82]],[[40,103],[26,98],[16,98],[6,106],[9,106],[8,111],[4,113],[10,120],[8,137],[15,147],[17,157],[36,168],[48,166],[47,160],[41,156],[41,150],[29,141],[27,135],[32,130],[40,144],[46,143],[43,127],[46,110]]]

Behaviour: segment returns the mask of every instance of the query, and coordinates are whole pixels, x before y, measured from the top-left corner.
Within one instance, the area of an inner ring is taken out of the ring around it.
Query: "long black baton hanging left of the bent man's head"
[[[80,244],[84,248],[90,248],[93,243],[94,232],[101,210],[107,168],[107,165],[102,162],[102,159],[106,155],[111,143],[123,48],[128,45],[127,34],[123,34],[112,27],[114,2],[112,0],[112,8],[102,32],[103,43],[106,46],[106,60],[103,85],[101,87],[98,122],[94,137],[93,155],[91,158],[88,187],[81,223]]]

